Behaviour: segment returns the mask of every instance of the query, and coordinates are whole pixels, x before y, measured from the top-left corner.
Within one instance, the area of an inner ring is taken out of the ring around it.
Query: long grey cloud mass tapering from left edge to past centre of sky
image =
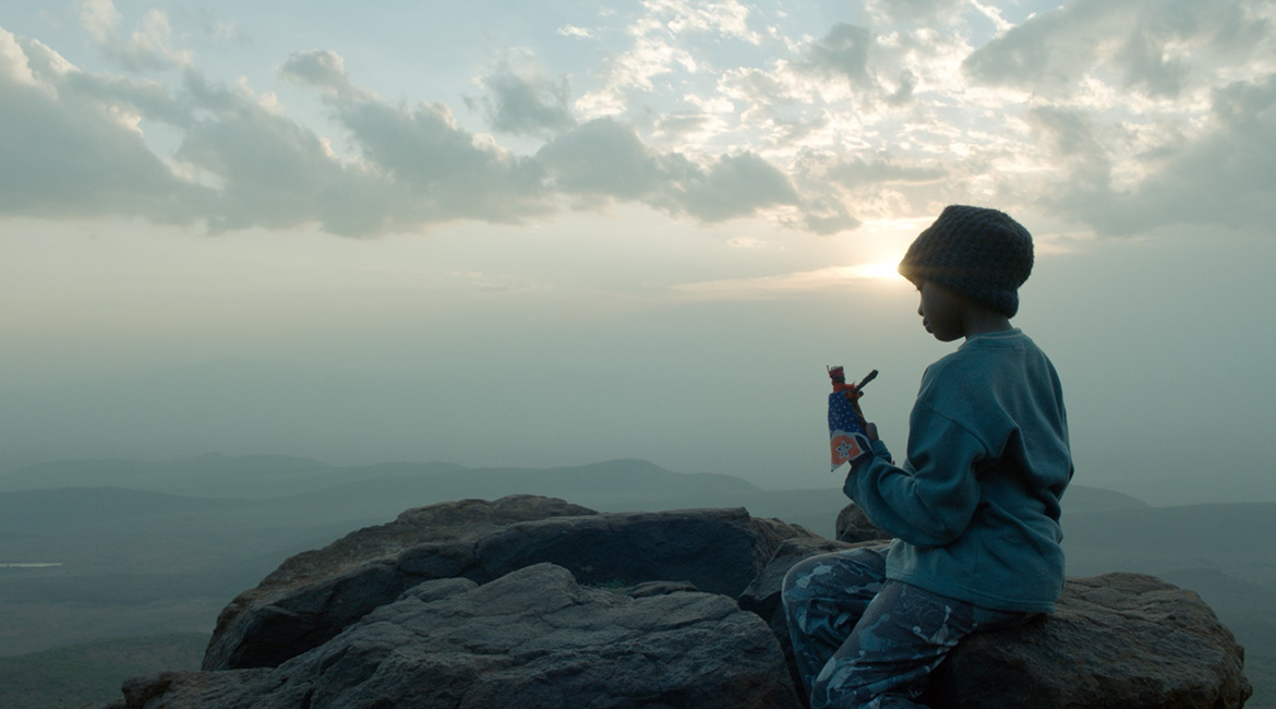
[[[87,24],[108,32],[117,22],[112,6],[94,8]],[[332,51],[296,52],[279,75],[320,93],[353,158],[339,158],[328,139],[246,82],[223,84],[188,69],[171,89],[87,74],[5,32],[0,98],[13,108],[0,121],[0,210],[140,216],[211,232],[318,224],[374,236],[457,219],[522,223],[560,209],[560,195],[584,207],[635,201],[702,222],[798,201],[789,179],[755,153],[692,159],[649,148],[611,119],[574,125],[565,85],[550,91],[508,64],[485,80],[498,97],[494,121],[510,131],[560,131],[533,156],[461,128],[443,103],[379,99]],[[160,124],[180,135],[167,157],[148,142]]]

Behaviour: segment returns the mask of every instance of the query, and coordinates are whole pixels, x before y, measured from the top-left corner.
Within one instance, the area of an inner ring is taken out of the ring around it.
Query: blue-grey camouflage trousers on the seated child
[[[1034,613],[994,611],[886,578],[889,547],[804,559],[783,584],[785,615],[812,709],[903,709],[957,641]]]

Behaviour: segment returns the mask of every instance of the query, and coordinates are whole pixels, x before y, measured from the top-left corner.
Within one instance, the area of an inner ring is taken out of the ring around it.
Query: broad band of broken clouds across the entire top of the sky
[[[1018,11],[873,1],[818,26],[777,3],[648,0],[458,68],[480,96],[450,105],[382,98],[336,51],[290,50],[272,80],[320,98],[325,135],[209,77],[162,9],[85,0],[93,70],[0,28],[0,216],[352,237],[623,203],[820,235],[952,201],[1106,235],[1276,221],[1270,3]],[[547,69],[564,47],[598,59]]]

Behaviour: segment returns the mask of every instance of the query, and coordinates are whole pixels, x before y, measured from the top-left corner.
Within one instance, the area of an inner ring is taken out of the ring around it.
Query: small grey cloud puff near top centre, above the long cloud
[[[489,96],[484,98],[491,128],[522,135],[553,135],[575,125],[568,106],[572,89],[564,78],[559,83],[541,75],[540,68],[524,60],[504,60],[482,79]]]

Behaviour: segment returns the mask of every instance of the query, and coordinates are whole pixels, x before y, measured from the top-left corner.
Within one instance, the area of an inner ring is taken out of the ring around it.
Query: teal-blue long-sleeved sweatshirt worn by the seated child
[[[1072,471],[1059,375],[1013,329],[974,335],[930,365],[903,467],[874,441],[843,490],[897,537],[887,578],[985,608],[1050,612]]]

